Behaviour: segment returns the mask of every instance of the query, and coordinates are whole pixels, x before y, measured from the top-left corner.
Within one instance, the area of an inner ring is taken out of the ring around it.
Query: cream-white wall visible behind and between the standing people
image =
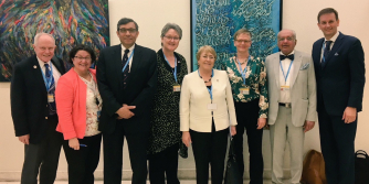
[[[369,36],[367,32],[369,25],[369,1],[367,0],[284,0],[283,2],[283,28],[293,29],[297,33],[296,50],[310,53],[313,43],[323,36],[318,30],[317,13],[323,8],[333,7],[339,12],[339,30],[345,34],[350,34],[361,40],[365,53],[369,53]],[[133,18],[139,25],[139,36],[137,43],[151,47],[160,48],[160,31],[167,22],[175,22],[183,30],[183,36],[177,52],[181,53],[187,62],[190,62],[190,1],[189,0],[109,0],[109,22],[110,22],[110,43],[118,44],[116,36],[116,23],[123,17]],[[368,62],[366,62],[368,64]],[[188,63],[190,65],[190,63]],[[367,65],[368,68],[368,65]],[[368,79],[368,77],[367,77]],[[368,85],[367,85],[368,86]],[[2,128],[0,129],[0,181],[19,180],[23,162],[23,145],[14,137],[12,119],[10,116],[10,84],[0,84],[0,117]],[[366,143],[369,136],[369,93],[365,90],[363,110],[359,113],[359,123],[356,137],[356,149],[369,151]],[[271,156],[268,131],[264,131],[263,152],[265,162],[265,176],[270,177]],[[246,142],[246,139],[245,139]],[[316,127],[305,137],[305,151],[309,149],[320,150],[319,134]],[[245,144],[246,148],[246,144]],[[288,150],[288,148],[286,148]],[[189,150],[189,159],[180,160],[180,176],[194,175],[194,161],[192,151]],[[247,149],[244,150],[247,153]],[[285,155],[285,167],[288,169],[288,151]],[[247,155],[245,155],[247,161]],[[102,177],[102,165],[97,167],[97,177]],[[247,164],[246,164],[247,166]],[[64,153],[61,154],[57,178],[66,178],[66,161]],[[129,159],[125,147],[124,152],[124,176],[130,176]],[[246,169],[247,171],[247,169]],[[286,176],[288,175],[285,170]],[[247,175],[247,174],[246,174]]]

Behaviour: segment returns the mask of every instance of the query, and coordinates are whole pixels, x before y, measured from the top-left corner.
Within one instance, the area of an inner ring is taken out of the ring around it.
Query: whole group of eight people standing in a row
[[[61,147],[70,184],[94,183],[103,137],[104,183],[122,181],[123,143],[127,140],[131,183],[179,184],[178,155],[192,147],[198,184],[223,181],[229,137],[233,137],[240,177],[244,173],[243,133],[250,152],[250,183],[263,183],[263,128],[270,127],[272,182],[283,183],[285,143],[291,148],[291,183],[299,183],[304,133],[318,112],[321,152],[329,184],[354,184],[357,112],[365,86],[363,51],[358,39],[337,31],[338,13],[317,17],[324,37],[313,53],[295,50],[296,33],[277,34],[281,52],[265,62],[249,52],[252,34],[234,33],[234,56],[213,68],[215,51],[204,45],[188,74],[176,50],[182,30],[167,23],[161,48],[136,44],[138,24],[117,23],[120,44],[101,51],[86,45],[70,52],[72,69],[54,57],[51,34],[34,37],[35,55],[14,65],[11,112],[15,136],[24,143],[21,183],[52,184]],[[96,71],[91,66],[97,61]],[[147,165],[148,160],[148,165]]]

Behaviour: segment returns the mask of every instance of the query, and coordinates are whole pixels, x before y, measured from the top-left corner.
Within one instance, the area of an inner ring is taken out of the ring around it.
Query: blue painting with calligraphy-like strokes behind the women
[[[233,34],[245,28],[252,33],[250,53],[263,59],[278,51],[282,0],[191,0],[192,71],[196,53],[203,45],[217,52],[215,68],[236,52]]]

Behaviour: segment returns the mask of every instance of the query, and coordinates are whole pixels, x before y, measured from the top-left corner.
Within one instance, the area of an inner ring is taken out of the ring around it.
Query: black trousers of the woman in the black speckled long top
[[[149,177],[150,184],[179,184],[178,180],[178,150],[179,143],[176,143],[166,150],[149,154]]]

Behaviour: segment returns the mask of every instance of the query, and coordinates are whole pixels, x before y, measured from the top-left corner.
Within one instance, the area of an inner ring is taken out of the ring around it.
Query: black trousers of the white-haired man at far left
[[[56,116],[49,117],[48,123],[46,136],[40,143],[24,144],[21,184],[38,184],[39,170],[40,184],[53,184],[55,181],[63,134],[55,130]]]

